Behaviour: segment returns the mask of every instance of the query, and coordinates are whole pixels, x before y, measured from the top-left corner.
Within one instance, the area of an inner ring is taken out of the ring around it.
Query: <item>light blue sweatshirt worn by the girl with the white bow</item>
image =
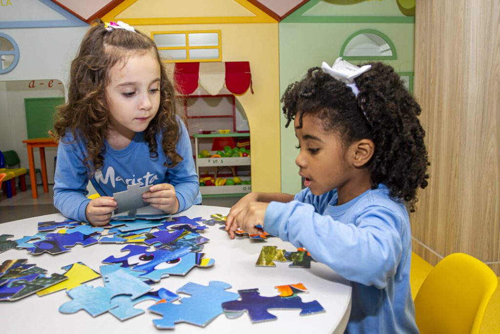
[[[352,281],[346,332],[417,333],[409,285],[411,230],[404,205],[388,189],[367,190],[336,205],[336,189],[309,188],[289,203],[271,202],[264,230],[325,263]]]

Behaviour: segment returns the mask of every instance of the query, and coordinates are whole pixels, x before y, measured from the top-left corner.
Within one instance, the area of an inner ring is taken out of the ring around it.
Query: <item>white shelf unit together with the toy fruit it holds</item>
[[[246,145],[237,147],[234,138],[249,138],[249,133],[229,133],[219,130],[221,133],[193,134],[196,173],[199,175],[201,195],[223,195],[223,194],[245,194],[251,192],[250,176],[237,175],[235,166],[250,166],[249,141]],[[214,142],[212,150],[199,150],[198,139],[211,138]],[[230,139],[224,141],[221,139]],[[223,143],[232,145],[221,146]],[[207,172],[200,173],[200,168],[210,169],[213,167],[213,175]],[[219,175],[221,169],[228,169],[232,177]]]

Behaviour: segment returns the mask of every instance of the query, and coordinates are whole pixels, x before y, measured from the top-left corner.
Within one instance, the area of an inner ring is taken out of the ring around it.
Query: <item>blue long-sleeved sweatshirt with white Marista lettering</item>
[[[149,147],[144,141],[143,132],[137,132],[130,144],[121,150],[114,150],[104,140],[104,161],[101,170],[91,176],[90,182],[101,196],[126,190],[128,184],[140,186],[170,183],[175,188],[179,201],[179,211],[192,204],[201,203],[199,181],[192,159],[191,143],[184,124],[178,120],[180,138],[176,145],[177,153],[183,158],[173,168],[164,166],[170,161],[161,149],[162,136],[156,135],[157,158],[149,156]],[[57,148],[57,163],[54,176],[54,206],[65,217],[88,222],[85,208],[90,202],[86,186],[89,169],[83,164],[86,148],[83,140],[73,141],[69,131]]]

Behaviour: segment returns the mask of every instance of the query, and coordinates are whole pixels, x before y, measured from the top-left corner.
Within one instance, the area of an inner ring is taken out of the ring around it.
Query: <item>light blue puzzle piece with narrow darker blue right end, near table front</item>
[[[130,319],[136,315],[144,313],[143,309],[133,307],[135,304],[145,300],[161,300],[165,299],[168,302],[178,299],[179,296],[165,288],[160,288],[157,291],[151,291],[136,299],[131,299],[129,295],[117,295],[111,299],[111,304],[117,305],[109,310],[109,313],[120,319],[121,321]]]

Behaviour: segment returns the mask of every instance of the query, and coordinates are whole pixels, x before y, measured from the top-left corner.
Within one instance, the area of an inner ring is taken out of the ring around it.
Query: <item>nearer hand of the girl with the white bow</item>
[[[239,201],[238,201],[239,203]],[[229,215],[225,219],[225,230],[229,234],[229,238],[234,239],[234,231],[239,227],[249,234],[262,234],[264,227],[265,210],[269,203],[249,202],[242,208],[237,207],[237,213],[233,212],[233,208],[238,205],[236,203],[229,211]],[[231,212],[233,213],[231,215]],[[229,216],[231,218],[229,219]],[[260,225],[261,227],[255,227]]]

